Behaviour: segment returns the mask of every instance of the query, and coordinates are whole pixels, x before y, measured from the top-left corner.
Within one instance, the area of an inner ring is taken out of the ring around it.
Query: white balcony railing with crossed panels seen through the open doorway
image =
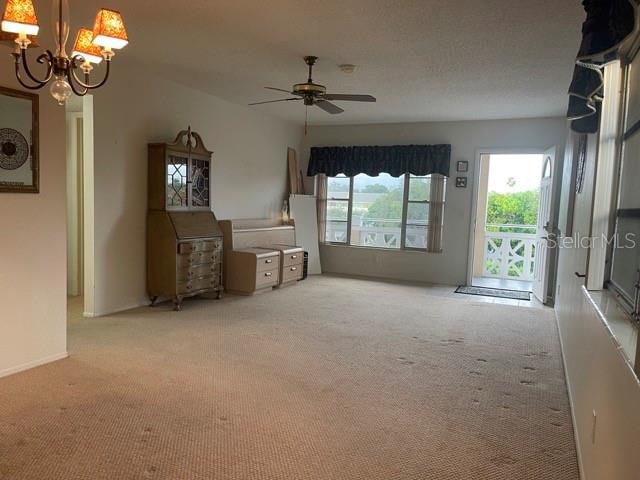
[[[534,225],[487,225],[482,275],[532,281],[536,256]]]

